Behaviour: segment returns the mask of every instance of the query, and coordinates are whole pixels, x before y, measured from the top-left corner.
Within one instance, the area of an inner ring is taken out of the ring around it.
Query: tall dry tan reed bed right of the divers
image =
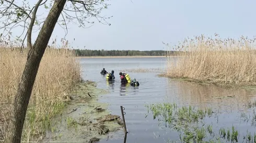
[[[234,84],[256,83],[255,40],[241,36],[222,40],[204,35],[185,38],[183,43],[172,47],[182,51],[179,56],[169,54],[170,77],[187,77],[195,80]]]

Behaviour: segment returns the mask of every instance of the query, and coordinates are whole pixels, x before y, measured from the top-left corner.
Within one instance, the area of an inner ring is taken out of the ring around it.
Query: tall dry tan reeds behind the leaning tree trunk
[[[52,129],[53,115],[65,107],[65,96],[72,92],[80,81],[79,62],[67,43],[61,47],[46,48],[33,86],[29,108],[26,115],[22,139],[26,141],[40,139],[46,129]],[[0,120],[3,123],[9,111],[9,105],[17,92],[17,87],[25,67],[27,50],[0,47]]]

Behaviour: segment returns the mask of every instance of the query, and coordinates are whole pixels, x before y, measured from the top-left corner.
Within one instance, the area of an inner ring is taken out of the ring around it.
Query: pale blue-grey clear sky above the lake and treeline
[[[218,33],[223,38],[238,38],[256,35],[256,1],[252,0],[111,0],[109,4],[101,15],[113,16],[108,19],[110,26],[96,22],[83,29],[68,24],[65,38],[73,48],[166,50],[162,42],[174,45],[188,36]],[[48,14],[44,8],[40,12],[45,16]],[[36,40],[37,34],[32,33],[32,41]],[[60,41],[64,35],[64,30],[56,25],[51,40],[56,37]]]

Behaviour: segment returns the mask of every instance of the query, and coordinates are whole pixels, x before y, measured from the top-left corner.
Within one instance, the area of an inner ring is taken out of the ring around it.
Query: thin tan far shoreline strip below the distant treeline
[[[76,58],[165,58],[167,56],[77,56]]]

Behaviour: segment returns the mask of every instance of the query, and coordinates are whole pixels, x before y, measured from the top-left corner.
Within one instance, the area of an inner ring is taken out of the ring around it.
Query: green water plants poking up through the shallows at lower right
[[[202,110],[191,106],[178,107],[176,103],[156,103],[145,106],[148,112],[152,112],[154,120],[158,119],[159,122],[164,123],[163,126],[172,129],[171,133],[178,132],[180,142],[256,142],[255,133],[239,133],[234,125],[214,128],[213,123],[207,123],[206,120],[218,116],[218,112],[214,112],[212,108]],[[255,122],[253,116],[255,112],[252,115],[251,125]]]

